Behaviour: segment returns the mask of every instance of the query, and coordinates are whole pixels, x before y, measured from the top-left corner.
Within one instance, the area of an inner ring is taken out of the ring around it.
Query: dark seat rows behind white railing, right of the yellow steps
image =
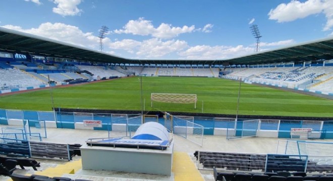
[[[245,153],[224,153],[224,152],[205,152],[194,153],[202,168],[219,168],[224,170],[239,171],[266,171],[276,172],[278,175],[285,177],[291,176],[290,172],[298,172],[294,176],[306,176],[306,172],[332,172],[333,164],[302,160],[301,158],[286,156],[268,156],[262,154],[245,154]],[[304,158],[305,159],[305,158]],[[267,164],[266,164],[267,163]],[[306,164],[307,163],[307,164]],[[266,166],[266,167],[265,167]],[[267,173],[268,174],[268,173]]]

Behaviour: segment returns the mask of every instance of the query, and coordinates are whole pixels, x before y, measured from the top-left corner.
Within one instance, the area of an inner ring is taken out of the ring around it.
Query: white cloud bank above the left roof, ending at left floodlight
[[[23,29],[14,25],[5,25],[3,27],[88,48],[98,49],[99,47],[99,38],[97,36],[92,33],[84,33],[76,26],[63,23],[42,23],[38,28],[31,29]],[[108,43],[110,40],[105,38],[103,42]]]

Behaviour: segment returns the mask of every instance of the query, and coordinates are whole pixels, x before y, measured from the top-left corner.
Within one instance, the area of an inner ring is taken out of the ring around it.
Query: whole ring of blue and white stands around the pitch
[[[68,79],[108,79],[110,77],[125,77],[129,75],[144,76],[197,76],[197,77],[223,77],[230,79],[242,78],[248,82],[270,84],[288,88],[298,88],[302,91],[309,90],[321,94],[332,94],[333,66],[308,66],[308,67],[244,67],[244,68],[198,68],[198,67],[143,67],[143,66],[94,66],[75,65],[73,68],[58,69],[55,62],[52,69],[43,68],[45,66],[30,63],[30,67],[24,64],[11,63],[13,68],[2,69],[3,83],[2,89],[10,87],[29,87],[47,84],[48,76],[50,80],[61,85]],[[3,63],[3,66],[7,64]],[[7,72],[7,73],[5,73]],[[12,73],[11,73],[12,72]],[[15,73],[14,73],[15,72]],[[223,74],[221,72],[224,72]],[[16,74],[16,76],[12,76]],[[9,78],[7,78],[9,77]],[[15,80],[18,79],[18,80]],[[21,81],[26,79],[24,81]],[[13,80],[13,81],[12,81]],[[15,80],[15,81],[14,81]],[[6,84],[6,85],[4,85]]]

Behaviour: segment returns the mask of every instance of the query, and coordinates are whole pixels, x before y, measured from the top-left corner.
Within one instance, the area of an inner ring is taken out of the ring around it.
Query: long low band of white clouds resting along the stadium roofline
[[[63,23],[43,23],[39,27],[31,29],[23,29],[20,26],[14,25],[6,25],[3,27],[95,50],[99,49],[99,38],[97,36],[90,32],[82,32],[78,27],[72,25],[66,25]],[[254,53],[254,45],[196,45],[191,47],[186,41],[177,39],[164,40],[161,38],[150,38],[142,41],[133,39],[115,39],[114,42],[112,42],[106,37],[103,39],[103,43],[104,52],[119,56],[122,55],[126,58],[129,58],[130,56],[136,58],[165,58],[176,56],[176,59],[225,59]],[[294,40],[283,40],[270,43],[263,42],[261,46],[269,48],[291,43],[294,43]]]

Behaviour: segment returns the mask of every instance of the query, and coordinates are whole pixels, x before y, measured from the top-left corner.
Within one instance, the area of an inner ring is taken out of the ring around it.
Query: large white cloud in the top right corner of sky
[[[330,30],[333,27],[333,1],[332,0],[307,0],[304,3],[291,1],[288,4],[282,3],[268,13],[270,20],[276,20],[279,23],[291,22],[302,19],[310,15],[323,13],[327,19],[323,31]]]

